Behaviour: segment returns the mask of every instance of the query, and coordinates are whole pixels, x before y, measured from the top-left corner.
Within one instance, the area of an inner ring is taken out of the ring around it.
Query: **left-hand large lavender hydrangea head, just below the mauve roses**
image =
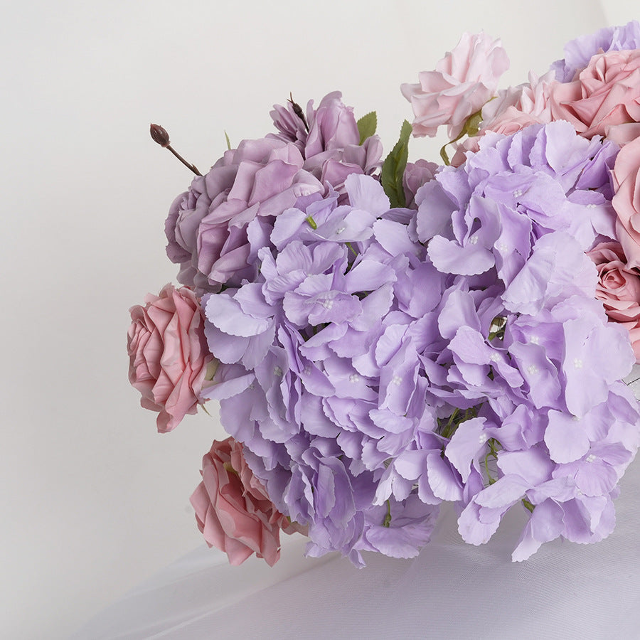
[[[348,204],[334,191],[284,211],[274,250],[257,250],[257,281],[203,306],[225,428],[282,512],[309,526],[308,553],[361,565],[361,550],[416,555],[434,525],[439,500],[380,487],[436,425],[407,329],[439,292],[416,291],[427,271],[410,211],[390,211],[373,178],[345,186]]]

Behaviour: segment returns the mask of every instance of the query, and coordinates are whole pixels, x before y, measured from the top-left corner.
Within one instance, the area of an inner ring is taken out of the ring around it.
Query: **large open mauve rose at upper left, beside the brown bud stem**
[[[181,265],[178,281],[201,295],[252,279],[257,267],[247,261],[247,225],[257,216],[279,215],[299,196],[324,191],[303,164],[295,144],[243,140],[205,176],[193,178],[164,227],[167,255]]]

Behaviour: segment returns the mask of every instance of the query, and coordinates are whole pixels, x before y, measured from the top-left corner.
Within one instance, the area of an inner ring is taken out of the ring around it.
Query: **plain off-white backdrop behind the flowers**
[[[164,218],[191,180],[149,122],[204,171],[225,130],[234,146],[269,132],[289,91],[304,105],[340,89],[356,115],[378,111],[388,150],[411,118],[400,83],[462,31],[501,36],[506,86],[640,15],[610,0],[4,4],[0,635],[55,639],[201,544],[188,498],[222,436],[206,414],[157,434],[127,381],[127,309],[174,279]]]

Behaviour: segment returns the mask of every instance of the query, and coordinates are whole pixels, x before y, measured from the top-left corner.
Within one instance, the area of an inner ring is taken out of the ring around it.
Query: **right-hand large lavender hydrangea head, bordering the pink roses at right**
[[[634,354],[607,323],[585,256],[615,236],[616,152],[566,123],[528,127],[485,139],[417,193],[415,233],[454,276],[439,349],[422,355],[427,393],[457,407],[444,454],[464,483],[459,531],[484,543],[524,503],[533,515],[514,560],[558,536],[608,535],[617,481],[640,444],[637,402],[620,382]]]

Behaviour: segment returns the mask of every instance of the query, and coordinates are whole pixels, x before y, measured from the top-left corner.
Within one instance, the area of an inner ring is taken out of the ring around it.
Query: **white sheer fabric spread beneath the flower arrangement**
[[[640,397],[638,366],[628,381]],[[272,569],[257,558],[230,567],[223,553],[203,546],[74,637],[639,638],[640,459],[621,487],[609,538],[596,545],[555,540],[521,563],[511,562],[511,550],[524,509],[508,513],[488,544],[472,547],[446,508],[418,558],[368,554],[361,570],[336,554],[304,558],[298,535],[284,540]]]

